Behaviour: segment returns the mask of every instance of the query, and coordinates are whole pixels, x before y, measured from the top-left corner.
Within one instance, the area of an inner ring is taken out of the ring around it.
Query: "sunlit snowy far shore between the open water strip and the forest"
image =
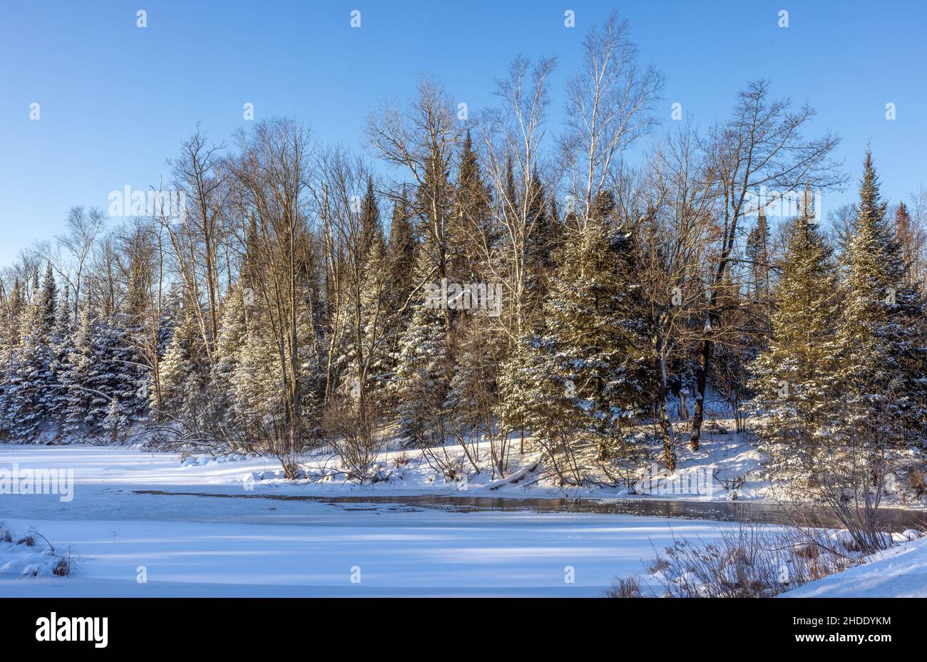
[[[470,470],[464,480],[446,481],[441,472],[429,463],[421,451],[409,449],[388,450],[378,461],[381,475],[387,481],[363,484],[346,481],[339,473],[337,457],[316,452],[303,457],[305,468],[298,481],[285,481],[283,468],[273,456],[188,456],[181,459],[176,453],[151,453],[133,447],[89,445],[2,445],[0,468],[14,463],[29,468],[71,468],[78,485],[133,484],[147,486],[223,485],[240,490],[273,489],[277,492],[301,494],[448,494],[485,493],[490,496],[537,497],[629,497],[648,499],[683,499],[698,501],[729,501],[731,493],[725,484],[743,477],[737,490],[738,500],[762,500],[767,483],[756,480],[759,455],[738,435],[706,433],[702,448],[692,453],[679,454],[679,471],[669,479],[683,477],[687,482],[697,477],[710,483],[704,493],[673,493],[663,489],[667,474],[654,464],[655,481],[649,483],[646,493],[635,494],[629,487],[565,488],[555,477],[544,472],[539,463],[540,453],[527,445],[524,455],[514,451],[504,476],[491,472],[489,443],[475,444],[472,456],[480,461],[481,471]],[[463,457],[456,444],[446,447],[447,456]],[[442,455],[444,453],[442,452]],[[645,469],[643,477],[651,476]],[[697,474],[697,476],[696,476]]]

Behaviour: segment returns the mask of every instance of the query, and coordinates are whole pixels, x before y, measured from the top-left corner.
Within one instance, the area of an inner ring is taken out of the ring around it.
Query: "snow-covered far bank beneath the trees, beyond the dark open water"
[[[221,486],[261,493],[303,495],[334,494],[485,494],[492,497],[540,498],[630,498],[699,502],[778,503],[781,494],[760,476],[763,456],[755,446],[750,431],[738,433],[727,406],[709,400],[701,447],[692,452],[686,444],[677,448],[678,469],[669,474],[661,469],[662,442],[655,439],[652,428],[641,426],[641,433],[651,446],[650,463],[644,463],[629,484],[607,486],[614,482],[596,475],[594,462],[587,462],[590,484],[565,487],[542,460],[540,448],[527,437],[524,453],[519,441],[508,455],[504,475],[493,469],[489,442],[474,443],[464,453],[453,440],[441,449],[423,451],[404,448],[395,438],[388,438],[387,449],[378,456],[375,470],[378,481],[347,481],[337,456],[330,449],[317,449],[301,459],[297,481],[285,481],[283,468],[273,456],[185,456],[176,453],[151,453],[134,447],[88,446],[82,444],[38,446],[0,444],[0,469],[13,463],[33,468],[72,468],[78,485],[146,485]],[[676,413],[675,411],[673,412]],[[690,423],[674,417],[679,439],[687,438]],[[646,435],[645,435],[646,436]],[[438,467],[440,461],[457,463],[464,472],[458,481],[447,481]],[[477,471],[473,461],[479,468]],[[600,486],[594,486],[594,484]],[[694,485],[707,489],[693,490]],[[681,488],[681,489],[680,489]],[[927,501],[910,498],[902,491],[883,495],[886,506],[923,510]]]

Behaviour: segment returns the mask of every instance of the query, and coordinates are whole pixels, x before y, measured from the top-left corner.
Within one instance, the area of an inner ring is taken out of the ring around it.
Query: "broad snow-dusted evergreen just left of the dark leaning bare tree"
[[[520,400],[529,408],[529,425],[537,418],[536,403],[542,407],[548,419],[537,421],[535,432],[588,438],[599,460],[640,451],[627,433],[654,390],[634,262],[628,233],[589,219],[565,244],[542,335],[522,343],[525,356],[515,364],[522,374],[503,378],[504,388],[504,382],[523,384]]]

